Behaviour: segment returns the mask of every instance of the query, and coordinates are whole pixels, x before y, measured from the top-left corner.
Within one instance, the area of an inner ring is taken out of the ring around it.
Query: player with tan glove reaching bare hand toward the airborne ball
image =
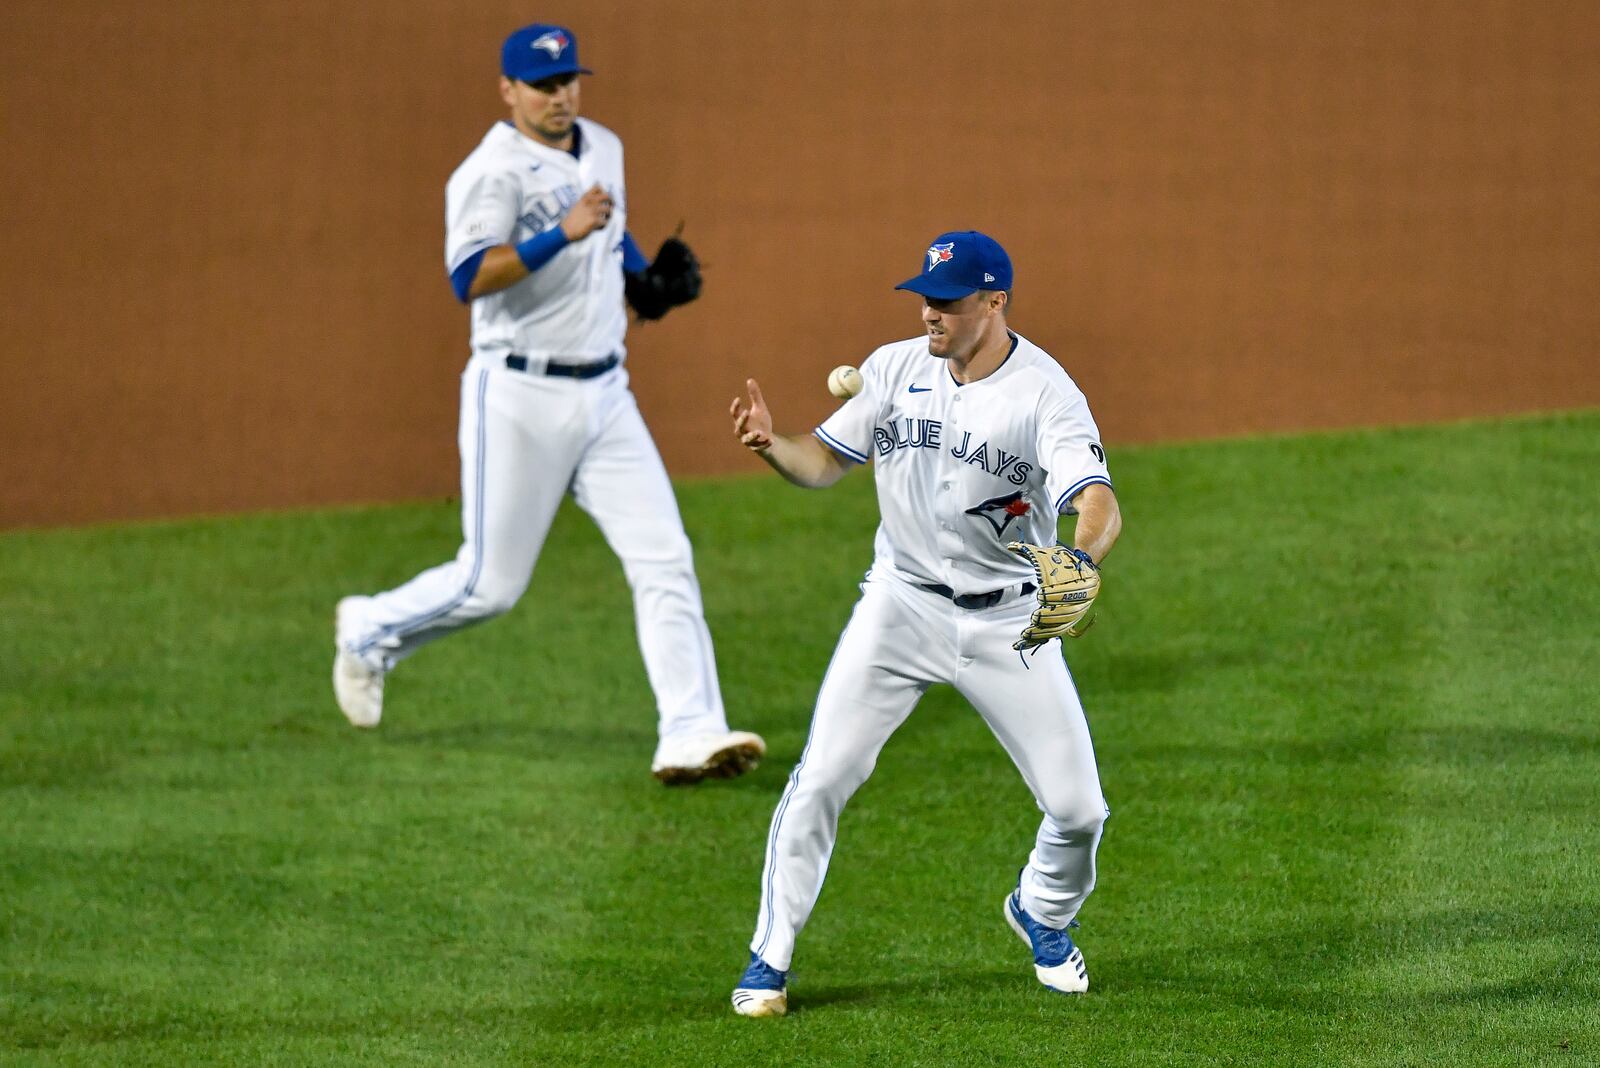
[[[750,962],[733,991],[742,1015],[787,1012],[795,938],[838,814],[934,683],[973,703],[1045,812],[1005,919],[1045,986],[1088,990],[1067,927],[1094,887],[1107,809],[1083,705],[1050,640],[1091,622],[1098,566],[1122,529],[1106,452],[1078,387],[1008,329],[1011,261],[998,243],[942,233],[896,288],[922,296],[923,334],[867,357],[861,392],[814,433],[774,433],[754,379],[731,406],[739,441],[798,486],[875,460],[882,513],[773,814]],[[1062,513],[1078,516],[1070,547],[1054,544]]]

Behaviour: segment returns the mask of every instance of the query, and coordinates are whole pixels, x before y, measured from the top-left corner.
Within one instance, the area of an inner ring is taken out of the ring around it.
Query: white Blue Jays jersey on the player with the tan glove
[[[960,384],[926,337],[883,345],[864,385],[816,428],[842,456],[877,460],[874,571],[955,593],[1026,582],[1006,542],[1051,544],[1085,486],[1110,486],[1083,392],[1019,334],[1000,368]]]

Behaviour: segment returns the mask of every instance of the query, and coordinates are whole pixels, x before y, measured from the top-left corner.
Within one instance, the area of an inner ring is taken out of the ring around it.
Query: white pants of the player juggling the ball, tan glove
[[[862,584],[766,835],[750,950],[770,966],[789,970],[795,937],[822,891],[840,811],[934,683],[971,702],[1045,812],[1022,870],[1022,907],[1050,927],[1077,916],[1094,889],[1107,809],[1061,648],[1022,657],[1011,648],[1032,609],[1032,596],[970,611],[893,577]]]

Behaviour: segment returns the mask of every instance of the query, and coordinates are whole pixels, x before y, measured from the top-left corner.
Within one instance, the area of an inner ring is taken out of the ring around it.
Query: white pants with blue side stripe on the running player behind
[[[461,552],[371,598],[355,652],[394,667],[509,611],[571,491],[632,587],[661,737],[726,731],[690,539],[627,373],[552,377],[474,358],[461,376],[459,443]]]

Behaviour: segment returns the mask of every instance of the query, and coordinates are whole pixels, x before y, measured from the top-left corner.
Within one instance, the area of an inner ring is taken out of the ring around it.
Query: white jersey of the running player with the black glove
[[[626,357],[622,336],[622,235],[627,197],[622,141],[587,118],[578,120],[581,158],[525,137],[498,122],[462,160],[445,187],[445,267],[456,267],[494,245],[518,245],[542,233],[597,182],[616,209],[605,229],[574,241],[531,275],[472,302],[472,352],[571,361]]]

